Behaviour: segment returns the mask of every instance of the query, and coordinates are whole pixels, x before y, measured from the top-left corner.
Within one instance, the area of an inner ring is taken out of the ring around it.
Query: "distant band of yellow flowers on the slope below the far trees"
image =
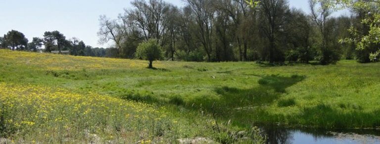
[[[96,58],[84,56],[56,55],[49,53],[33,53],[0,49],[0,59],[11,60],[18,65],[45,68],[47,70],[96,70],[96,69],[128,69],[145,68],[147,61],[115,58]],[[163,63],[155,63],[163,67]]]

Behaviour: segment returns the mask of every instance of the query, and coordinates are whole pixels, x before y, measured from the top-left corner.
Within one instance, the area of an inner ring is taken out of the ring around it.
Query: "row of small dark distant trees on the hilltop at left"
[[[58,31],[45,32],[44,37],[33,37],[29,42],[23,33],[11,30],[0,36],[0,48],[48,53],[69,51],[70,55],[75,56],[117,57],[118,55],[116,48],[94,48],[77,37],[66,39],[66,36]]]

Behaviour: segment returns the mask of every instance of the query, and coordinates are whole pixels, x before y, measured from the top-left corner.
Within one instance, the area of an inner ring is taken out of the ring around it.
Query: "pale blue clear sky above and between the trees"
[[[117,18],[124,8],[131,8],[132,0],[0,0],[0,36],[10,30],[23,33],[29,41],[43,37],[46,31],[59,31],[66,38],[77,37],[86,45],[109,47],[99,44],[98,18],[106,15]],[[183,6],[182,0],[165,0]],[[289,0],[289,6],[309,13],[308,0]],[[349,15],[347,10],[334,15]]]

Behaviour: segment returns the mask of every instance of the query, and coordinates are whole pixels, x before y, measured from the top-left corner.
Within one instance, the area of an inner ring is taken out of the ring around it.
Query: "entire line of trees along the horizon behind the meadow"
[[[348,7],[351,16],[334,17],[336,1],[309,0],[311,12],[305,13],[290,8],[288,0],[251,0],[254,6],[246,0],[184,0],[183,7],[164,0],[134,0],[117,19],[99,17],[99,42],[112,42],[114,48],[92,48],[57,31],[34,37],[30,43],[10,31],[0,37],[0,43],[17,50],[36,51],[44,45],[47,52],[70,50],[72,55],[132,59],[140,43],[154,39],[162,51],[160,59],[173,61],[319,61],[325,65],[340,59],[371,62],[378,58],[379,41],[363,46],[357,39],[374,33],[374,23],[363,21],[376,19],[379,1],[343,0],[370,6]]]

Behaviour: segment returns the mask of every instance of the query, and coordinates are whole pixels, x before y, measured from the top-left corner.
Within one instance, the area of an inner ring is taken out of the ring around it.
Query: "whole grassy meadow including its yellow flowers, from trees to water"
[[[147,63],[0,50],[0,138],[262,143],[256,126],[380,126],[380,63]]]

